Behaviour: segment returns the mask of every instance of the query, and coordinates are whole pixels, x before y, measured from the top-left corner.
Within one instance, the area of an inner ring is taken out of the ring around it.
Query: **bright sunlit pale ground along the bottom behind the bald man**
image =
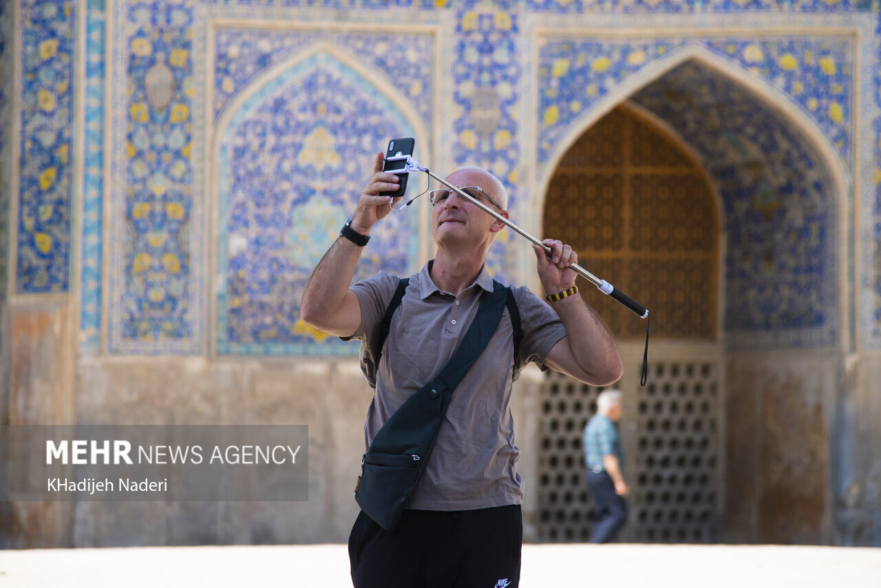
[[[174,588],[278,585],[351,587],[345,547],[0,551],[0,586]],[[591,585],[616,588],[879,588],[881,548],[526,545],[523,547],[521,585],[526,588]]]

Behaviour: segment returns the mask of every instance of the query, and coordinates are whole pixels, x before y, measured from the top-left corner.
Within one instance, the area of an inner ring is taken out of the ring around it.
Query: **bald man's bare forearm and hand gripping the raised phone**
[[[382,153],[374,161],[374,176],[361,191],[352,216],[352,231],[370,234],[374,224],[391,212],[392,198],[380,196],[398,188],[398,177],[382,171]],[[349,289],[363,246],[340,236],[330,246],[306,283],[300,316],[310,326],[338,337],[350,337],[361,324],[358,297]]]

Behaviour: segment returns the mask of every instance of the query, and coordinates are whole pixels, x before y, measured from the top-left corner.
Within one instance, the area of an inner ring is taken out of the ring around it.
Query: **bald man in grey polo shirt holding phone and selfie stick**
[[[352,287],[371,231],[395,205],[398,177],[382,171],[361,192],[352,218],[310,277],[300,313],[307,324],[361,342],[361,368],[374,388],[365,443],[446,365],[492,294],[486,251],[505,228],[452,190],[433,190],[432,234],[437,256],[410,277],[389,335],[375,349],[377,332],[398,277],[381,272]],[[507,218],[507,191],[479,167],[461,167],[447,181]],[[546,300],[526,287],[511,288],[523,332],[515,347],[506,309],[485,351],[455,388],[426,470],[397,525],[389,531],[361,511],[349,538],[355,588],[445,586],[515,588],[520,577],[523,480],[515,464],[512,384],[534,361],[594,385],[618,380],[618,347],[596,313],[577,295],[577,257],[568,245],[546,240],[535,247]],[[515,349],[519,349],[515,353]],[[378,358],[378,361],[377,361]]]

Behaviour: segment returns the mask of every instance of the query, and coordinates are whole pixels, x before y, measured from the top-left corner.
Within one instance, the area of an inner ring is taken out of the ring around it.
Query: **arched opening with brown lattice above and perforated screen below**
[[[569,148],[546,196],[544,234],[559,234],[589,260],[591,272],[651,301],[656,337],[687,342],[687,349],[652,347],[646,387],[638,386],[637,373],[618,384],[626,398],[619,427],[631,486],[623,540],[714,539],[721,504],[719,227],[700,164],[633,105],[613,109]],[[619,340],[644,334],[646,324],[616,302],[592,288],[582,295]],[[537,480],[541,540],[590,538],[593,503],[581,434],[601,390],[552,372],[545,380]]]

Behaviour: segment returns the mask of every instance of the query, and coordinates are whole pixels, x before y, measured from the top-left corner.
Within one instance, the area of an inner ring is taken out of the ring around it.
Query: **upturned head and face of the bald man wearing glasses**
[[[450,174],[447,182],[456,188],[477,186],[498,201],[497,195],[492,191],[494,182],[480,170],[460,169]],[[492,205],[485,195],[480,195],[478,199],[507,219],[507,212],[500,211]],[[485,246],[489,247],[492,236],[504,227],[499,220],[493,219],[470,200],[459,197],[455,192],[452,192],[444,202],[433,205],[432,234],[434,242],[439,247],[452,243],[471,245],[475,249],[479,249],[479,246],[485,243]]]

